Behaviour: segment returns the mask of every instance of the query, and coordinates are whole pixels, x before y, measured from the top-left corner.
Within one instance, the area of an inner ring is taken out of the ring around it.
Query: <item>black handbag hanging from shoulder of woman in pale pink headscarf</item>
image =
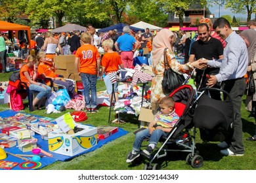
[[[164,67],[165,71],[163,73],[163,81],[161,82],[161,86],[163,88],[163,93],[165,95],[169,95],[169,93],[173,92],[175,88],[181,86],[181,84],[185,81],[183,75],[179,75],[171,69],[168,60],[167,60],[167,48],[163,51],[164,56]]]

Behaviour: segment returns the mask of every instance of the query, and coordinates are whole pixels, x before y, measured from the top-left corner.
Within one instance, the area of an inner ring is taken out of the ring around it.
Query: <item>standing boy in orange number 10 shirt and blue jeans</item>
[[[85,110],[96,113],[96,82],[100,69],[100,54],[95,46],[91,45],[91,35],[87,32],[81,34],[83,45],[75,53],[75,68],[83,82],[83,95],[85,95]],[[80,68],[78,67],[80,62]],[[91,90],[91,98],[90,98]]]

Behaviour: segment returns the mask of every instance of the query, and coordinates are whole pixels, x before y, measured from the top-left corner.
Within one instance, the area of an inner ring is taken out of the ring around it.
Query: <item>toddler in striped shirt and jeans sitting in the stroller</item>
[[[179,116],[175,113],[175,102],[172,97],[163,97],[160,100],[161,111],[158,112],[152,122],[150,122],[148,129],[139,131],[136,134],[135,142],[133,143],[133,150],[127,156],[126,162],[131,163],[140,156],[140,146],[144,139],[150,138],[148,147],[142,153],[150,157],[150,154],[158,144],[160,138],[166,137],[167,133],[171,131],[173,126],[179,120]]]

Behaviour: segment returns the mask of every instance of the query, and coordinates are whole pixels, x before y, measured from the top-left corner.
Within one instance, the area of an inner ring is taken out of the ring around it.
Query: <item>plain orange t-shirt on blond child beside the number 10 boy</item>
[[[101,65],[105,67],[106,75],[110,72],[118,71],[118,65],[121,65],[121,57],[117,52],[104,54]]]

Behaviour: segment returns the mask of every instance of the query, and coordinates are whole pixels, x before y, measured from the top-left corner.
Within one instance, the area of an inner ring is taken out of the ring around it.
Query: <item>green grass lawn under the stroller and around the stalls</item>
[[[10,73],[0,74],[0,80],[9,80]],[[105,90],[104,82],[98,80],[97,90]],[[245,96],[243,97],[245,100]],[[36,114],[39,116],[47,116],[50,118],[57,118],[62,116],[66,112],[72,112],[73,110],[66,110],[58,114],[45,114],[45,110],[37,110],[30,112],[28,110],[28,101],[24,101],[26,106],[22,112]],[[0,105],[0,111],[7,110],[8,105]],[[83,124],[91,124],[94,126],[108,125],[108,107],[100,107],[99,112],[96,114],[88,114],[88,120]],[[218,142],[202,142],[200,139],[200,133],[196,133],[196,148],[200,152],[200,156],[203,157],[203,167],[201,170],[255,170],[256,161],[256,142],[245,141],[247,137],[253,135],[255,130],[254,118],[249,118],[249,112],[245,110],[244,103],[242,104],[242,121],[243,121],[243,135],[245,155],[241,157],[224,157],[219,153],[217,147]],[[115,114],[112,111],[111,119],[114,120]],[[144,163],[148,162],[148,159],[143,159],[142,164],[134,166],[126,163],[126,156],[131,151],[135,135],[133,131],[138,128],[138,120],[135,116],[123,115],[123,118],[127,118],[126,124],[111,124],[113,126],[121,127],[129,133],[115,141],[105,144],[101,148],[87,154],[83,154],[70,161],[56,161],[55,163],[43,167],[44,170],[142,170]],[[146,144],[146,142],[145,142]],[[186,164],[186,156],[188,153],[173,152],[168,154],[165,158],[157,160],[161,164],[161,169],[164,170],[192,170],[190,165]]]

